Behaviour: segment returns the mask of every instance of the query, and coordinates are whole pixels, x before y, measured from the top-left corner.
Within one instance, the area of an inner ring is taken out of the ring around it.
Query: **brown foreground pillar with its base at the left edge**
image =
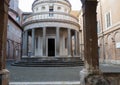
[[[8,85],[6,70],[6,39],[9,0],[0,0],[0,85]]]

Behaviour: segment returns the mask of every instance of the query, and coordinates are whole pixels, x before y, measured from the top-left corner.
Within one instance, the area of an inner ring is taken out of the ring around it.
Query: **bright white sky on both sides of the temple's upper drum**
[[[19,8],[24,12],[31,12],[31,6],[34,0],[19,0]],[[73,10],[81,9],[80,0],[69,0]]]

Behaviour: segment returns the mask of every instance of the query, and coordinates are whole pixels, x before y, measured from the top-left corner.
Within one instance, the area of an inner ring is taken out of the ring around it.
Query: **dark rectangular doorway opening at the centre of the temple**
[[[55,56],[55,39],[48,39],[48,56]]]

